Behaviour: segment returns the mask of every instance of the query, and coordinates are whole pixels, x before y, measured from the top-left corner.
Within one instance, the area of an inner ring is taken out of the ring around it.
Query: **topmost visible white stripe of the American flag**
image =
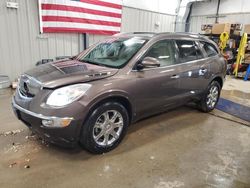
[[[91,10],[99,10],[99,11],[105,11],[105,12],[112,12],[112,13],[117,13],[121,14],[122,10],[121,9],[116,9],[116,8],[109,8],[106,6],[100,6],[100,5],[93,5],[93,4],[88,4],[84,2],[77,2],[77,1],[69,1],[69,0],[42,0],[43,4],[53,4],[53,5],[65,5],[65,6],[73,6],[73,7],[81,7],[81,8],[87,8]]]

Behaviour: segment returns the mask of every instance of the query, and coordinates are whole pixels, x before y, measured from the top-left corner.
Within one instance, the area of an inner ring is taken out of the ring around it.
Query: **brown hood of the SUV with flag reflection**
[[[113,76],[118,69],[63,60],[40,65],[25,74],[39,81],[45,88],[55,88],[73,83],[89,82]]]

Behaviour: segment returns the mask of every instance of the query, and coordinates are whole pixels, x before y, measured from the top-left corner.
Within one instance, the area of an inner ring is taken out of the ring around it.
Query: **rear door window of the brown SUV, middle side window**
[[[180,62],[194,61],[203,58],[202,52],[194,41],[176,40]]]

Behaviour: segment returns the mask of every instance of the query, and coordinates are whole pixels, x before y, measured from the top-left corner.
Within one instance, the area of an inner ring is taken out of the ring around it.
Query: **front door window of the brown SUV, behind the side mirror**
[[[156,42],[144,57],[156,58],[161,67],[173,65],[176,63],[174,44],[171,40]]]

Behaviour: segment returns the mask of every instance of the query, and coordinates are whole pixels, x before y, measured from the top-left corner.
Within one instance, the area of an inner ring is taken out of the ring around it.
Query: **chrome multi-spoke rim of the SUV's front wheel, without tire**
[[[121,135],[123,117],[116,110],[108,110],[101,114],[93,128],[93,138],[98,145],[112,145]]]

